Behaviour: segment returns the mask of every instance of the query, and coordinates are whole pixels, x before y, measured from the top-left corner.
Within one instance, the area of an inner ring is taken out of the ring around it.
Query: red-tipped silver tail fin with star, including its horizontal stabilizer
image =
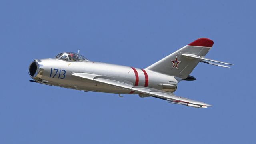
[[[214,62],[222,64],[229,63],[204,58],[212,46],[212,40],[199,38],[146,69],[186,79],[199,62],[230,68],[229,66],[216,64]]]

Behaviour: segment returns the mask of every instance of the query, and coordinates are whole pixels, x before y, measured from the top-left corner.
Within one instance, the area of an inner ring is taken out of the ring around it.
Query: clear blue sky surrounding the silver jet
[[[1,0],[1,144],[255,144],[255,1]],[[195,109],[137,95],[83,92],[29,82],[34,59],[77,52],[146,68],[193,40],[214,40],[178,96]]]

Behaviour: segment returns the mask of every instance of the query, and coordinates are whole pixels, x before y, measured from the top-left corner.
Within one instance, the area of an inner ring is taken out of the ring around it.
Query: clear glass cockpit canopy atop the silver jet
[[[80,54],[76,54],[74,52],[63,52],[55,56],[60,60],[69,61],[69,62],[82,62],[82,61],[89,61],[87,58]]]

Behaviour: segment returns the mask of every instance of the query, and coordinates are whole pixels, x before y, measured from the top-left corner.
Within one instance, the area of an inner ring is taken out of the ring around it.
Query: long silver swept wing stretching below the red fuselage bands
[[[131,82],[112,78],[112,77],[106,77],[106,76],[100,76],[100,75],[88,74],[88,73],[73,73],[72,76],[75,76],[77,78],[84,79],[84,80],[92,80],[94,82],[99,82],[102,84],[116,86],[118,88],[124,88],[124,89],[135,91],[138,93],[150,95],[155,98],[168,100],[170,101],[170,103],[174,103],[174,104],[182,104],[185,106],[192,106],[195,108],[207,108],[207,106],[211,106],[210,104],[206,104],[204,102],[199,102],[196,100],[190,100],[187,98],[175,96],[173,93],[170,93],[170,92],[164,92],[162,90],[157,90],[154,88],[148,88],[143,86],[133,86]]]

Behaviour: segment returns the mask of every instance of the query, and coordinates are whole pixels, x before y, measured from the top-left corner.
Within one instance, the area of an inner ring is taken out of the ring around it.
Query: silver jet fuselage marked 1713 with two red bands
[[[36,68],[34,68],[35,74],[31,72],[33,70],[31,65],[36,65]],[[160,74],[151,70],[92,61],[69,62],[57,58],[48,58],[34,60],[29,67],[30,76],[36,80],[36,82],[42,84],[84,91],[138,94],[130,90],[75,78],[71,74],[76,72],[113,77],[130,82],[134,86],[146,86],[168,92],[174,92],[179,82],[174,76]],[[164,87],[161,84],[175,85],[176,88]]]

